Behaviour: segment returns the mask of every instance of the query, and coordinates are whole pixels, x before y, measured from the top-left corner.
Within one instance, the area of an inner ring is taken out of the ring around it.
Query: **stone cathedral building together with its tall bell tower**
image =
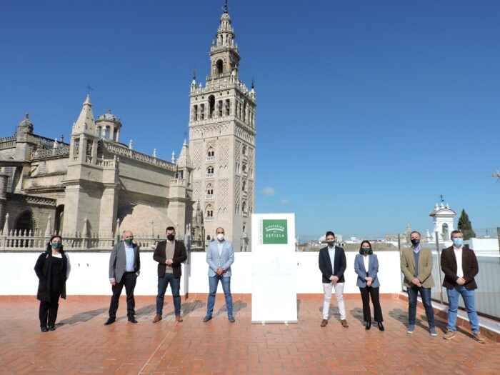
[[[209,55],[206,85],[191,83],[189,146],[184,141],[178,159],[122,144],[121,120],[111,111],[94,119],[89,96],[69,143],[35,134],[26,114],[14,135],[0,139],[0,237],[59,233],[78,242],[130,229],[154,239],[174,226],[204,249],[223,226],[236,251],[250,251],[256,96],[238,78],[227,6]]]

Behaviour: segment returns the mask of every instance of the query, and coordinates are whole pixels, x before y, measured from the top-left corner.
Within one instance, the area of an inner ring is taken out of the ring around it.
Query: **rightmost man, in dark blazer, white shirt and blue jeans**
[[[459,308],[459,297],[464,299],[465,309],[469,316],[474,339],[484,344],[484,337],[479,332],[479,318],[474,305],[474,294],[477,289],[474,277],[479,272],[476,254],[469,246],[464,245],[464,234],[461,231],[451,232],[453,246],[441,252],[441,269],[444,272],[443,286],[448,294],[448,330],[444,339],[453,339],[456,333],[456,311]]]

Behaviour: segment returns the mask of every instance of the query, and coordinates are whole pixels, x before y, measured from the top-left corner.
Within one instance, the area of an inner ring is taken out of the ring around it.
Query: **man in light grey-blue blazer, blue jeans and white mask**
[[[217,240],[211,241],[206,250],[206,263],[209,264],[209,301],[206,304],[206,316],[203,321],[212,319],[214,311],[215,294],[219,280],[226,297],[227,316],[234,323],[233,296],[231,296],[231,264],[234,262],[234,249],[231,242],[224,239],[224,228],[217,228]]]

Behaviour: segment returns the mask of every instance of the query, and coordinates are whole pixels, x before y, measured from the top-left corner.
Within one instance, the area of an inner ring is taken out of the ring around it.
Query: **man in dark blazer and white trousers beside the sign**
[[[321,326],[328,324],[329,309],[331,301],[331,289],[335,289],[337,304],[339,305],[339,313],[341,324],[348,327],[346,321],[346,306],[344,304],[344,271],[346,271],[346,253],[344,249],[335,246],[335,234],[332,231],[326,232],[326,242],[328,246],[319,251],[319,270],[322,275],[323,282],[323,320]]]

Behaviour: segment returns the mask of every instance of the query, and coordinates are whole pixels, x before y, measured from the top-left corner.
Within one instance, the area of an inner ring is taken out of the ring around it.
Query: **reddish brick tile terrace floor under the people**
[[[349,328],[341,326],[335,298],[322,328],[322,296],[298,296],[298,324],[251,324],[251,296],[234,295],[236,323],[227,320],[224,296],[217,296],[214,319],[203,323],[206,294],[183,297],[184,322],[177,324],[171,297],[157,324],[155,299],[136,297],[136,319],[104,326],[109,296],[69,296],[61,300],[56,331],[41,333],[34,296],[0,296],[0,374],[494,374],[500,346],[479,344],[469,326],[454,339],[429,335],[424,310],[417,310],[414,334],[406,334],[407,304],[381,300],[384,326],[362,324],[361,299],[346,297]]]

